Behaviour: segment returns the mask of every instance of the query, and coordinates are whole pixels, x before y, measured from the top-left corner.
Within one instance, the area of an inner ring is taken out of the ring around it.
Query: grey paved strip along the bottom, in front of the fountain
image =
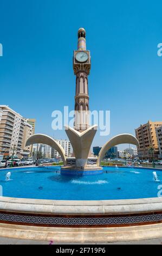
[[[63,245],[66,243],[53,243],[54,245]],[[72,245],[77,245],[79,243],[72,243]],[[90,244],[90,243],[85,243]],[[94,243],[92,243],[93,245]],[[98,243],[95,243],[98,245]],[[99,243],[100,245],[162,245],[162,237],[159,239],[150,240],[140,240],[131,242],[114,242],[114,243]],[[19,240],[19,239],[8,239],[0,237],[0,245],[49,245],[48,241],[36,241],[36,240]],[[70,245],[70,243],[68,243]]]

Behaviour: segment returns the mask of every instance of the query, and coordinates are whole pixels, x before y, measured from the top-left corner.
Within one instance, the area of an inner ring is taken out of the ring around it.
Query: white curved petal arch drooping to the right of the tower
[[[135,138],[133,135],[128,133],[123,133],[120,135],[116,135],[112,139],[110,139],[108,142],[106,142],[103,147],[100,150],[99,157],[98,157],[98,165],[100,165],[101,159],[105,156],[107,150],[111,149],[112,147],[119,145],[119,144],[134,144],[139,146],[139,142],[137,138]]]

